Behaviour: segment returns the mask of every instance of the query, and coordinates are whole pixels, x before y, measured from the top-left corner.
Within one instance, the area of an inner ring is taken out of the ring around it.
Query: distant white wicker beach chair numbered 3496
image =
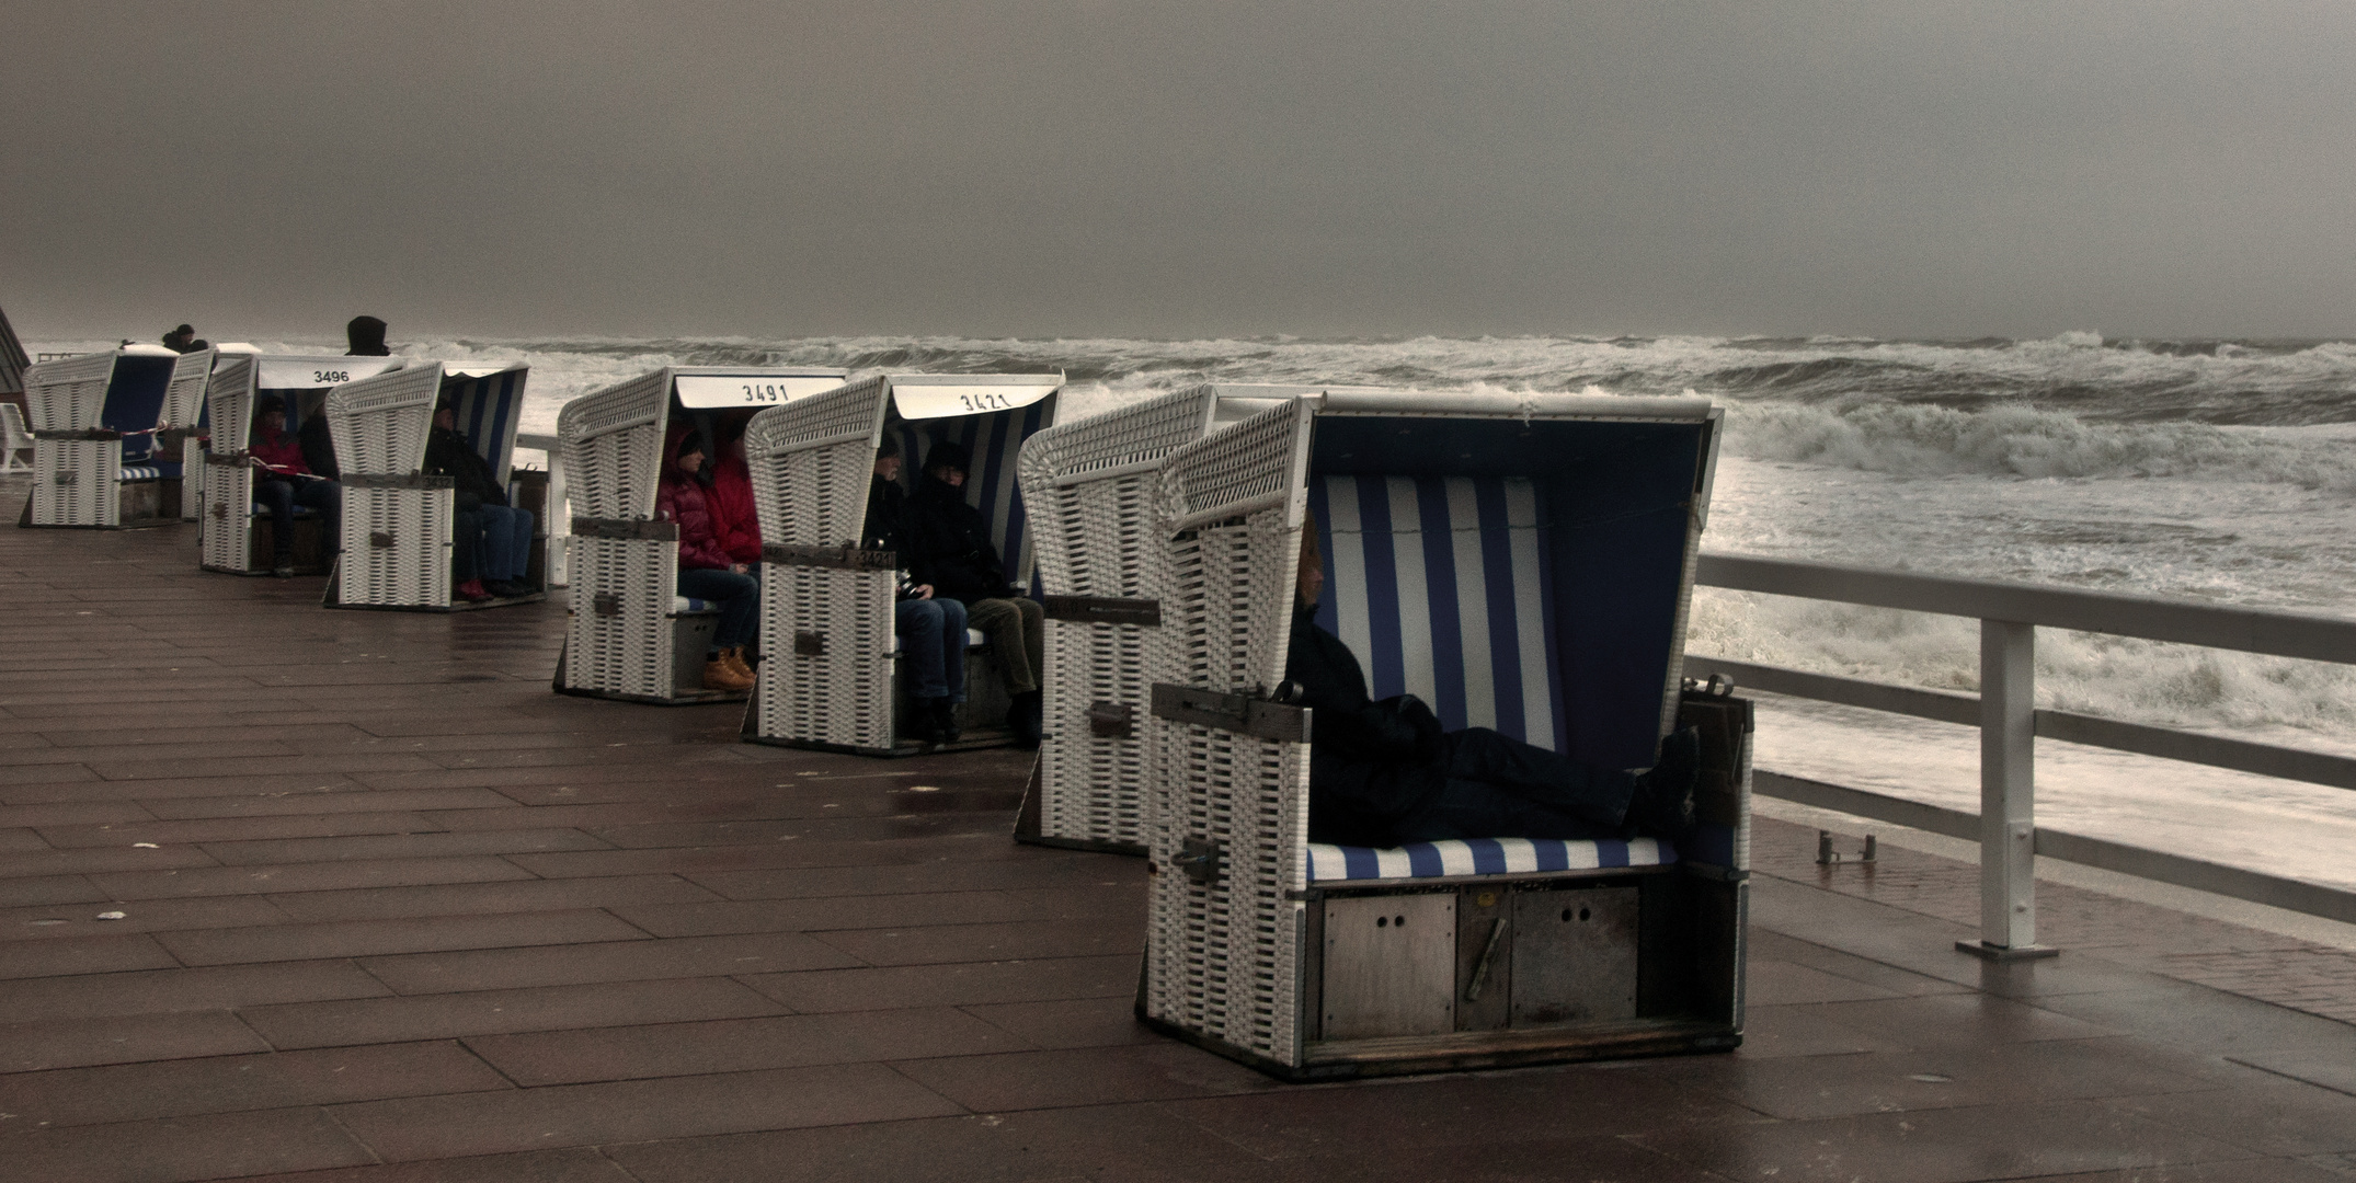
[[[266,575],[271,570],[269,514],[254,504],[254,467],[245,441],[254,431],[254,405],[273,396],[287,410],[287,431],[323,415],[327,391],[346,382],[401,370],[405,358],[346,358],[327,353],[221,353],[205,384],[212,443],[205,462],[205,509],[198,516],[198,561],[205,570]],[[318,514],[294,509],[294,570],[325,575],[335,547],[320,537]]]

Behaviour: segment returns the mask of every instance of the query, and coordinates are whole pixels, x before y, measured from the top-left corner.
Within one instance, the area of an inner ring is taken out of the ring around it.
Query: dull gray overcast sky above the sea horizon
[[[26,337],[2356,335],[2349,2],[0,7]]]

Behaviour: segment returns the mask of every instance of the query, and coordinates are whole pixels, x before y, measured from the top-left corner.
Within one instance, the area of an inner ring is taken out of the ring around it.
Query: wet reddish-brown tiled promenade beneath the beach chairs
[[[1013,754],[740,745],[551,695],[556,603],[193,547],[0,528],[5,1181],[2356,1178],[2337,950],[2045,888],[1988,969],[1970,867],[1776,822],[1739,1053],[1277,1086],[1131,1023],[1143,867],[1006,841]]]

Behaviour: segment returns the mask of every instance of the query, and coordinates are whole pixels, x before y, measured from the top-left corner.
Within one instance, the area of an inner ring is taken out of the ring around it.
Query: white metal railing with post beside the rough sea
[[[1840,813],[1979,841],[1979,943],[1991,957],[2038,957],[2036,855],[2356,924],[2356,893],[2168,851],[2038,830],[2036,738],[2137,752],[2238,773],[2356,789],[2356,759],[2076,712],[2036,709],[2036,629],[2356,665],[2356,620],[2080,592],[1998,580],[1908,575],[1835,563],[1703,554],[1696,582],[1732,592],[1864,603],[1979,620],[1979,695],[1920,690],[1772,665],[1687,655],[1687,674],[1727,674],[1758,690],[1979,728],[1979,813],[1760,771],[1755,789]]]

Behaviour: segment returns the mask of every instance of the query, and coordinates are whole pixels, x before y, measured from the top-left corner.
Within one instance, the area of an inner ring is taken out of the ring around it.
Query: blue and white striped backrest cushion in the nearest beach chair
[[[1310,481],[1326,584],[1317,622],[1366,662],[1366,693],[1411,693],[1449,731],[1562,749],[1538,490],[1501,476]]]

